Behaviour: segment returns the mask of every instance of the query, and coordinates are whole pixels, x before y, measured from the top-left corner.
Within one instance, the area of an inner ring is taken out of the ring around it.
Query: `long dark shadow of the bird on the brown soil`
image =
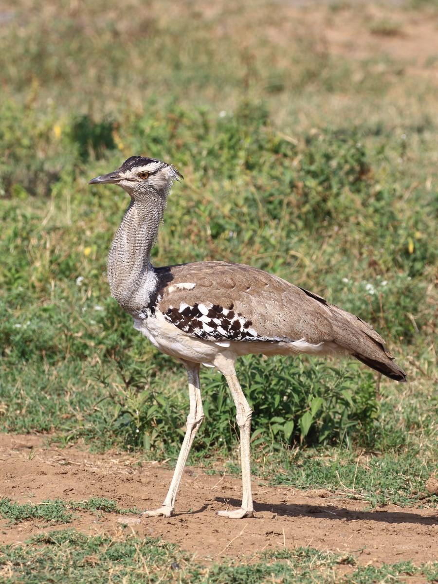
[[[224,498],[216,497],[215,500],[224,503]],[[238,499],[227,499],[227,504],[232,507],[240,507],[241,501]],[[397,512],[376,509],[374,511],[356,511],[345,507],[333,507],[331,505],[266,505],[266,503],[254,503],[254,511],[267,511],[280,517],[322,517],[332,520],[346,521],[377,521],[382,523],[414,523],[418,525],[438,524],[438,515],[433,517],[423,517],[418,513],[406,513],[403,509]]]

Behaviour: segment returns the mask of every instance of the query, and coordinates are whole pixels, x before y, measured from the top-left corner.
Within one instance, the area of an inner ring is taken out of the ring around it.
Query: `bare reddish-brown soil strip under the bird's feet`
[[[19,503],[44,499],[101,496],[120,507],[154,508],[164,500],[172,471],[158,463],[138,464],[128,454],[91,454],[78,447],[44,446],[37,436],[0,435],[0,496]],[[162,537],[200,558],[241,556],[261,550],[310,546],[353,554],[359,564],[415,564],[438,559],[438,512],[388,505],[365,510],[367,503],[329,491],[269,487],[253,480],[256,516],[230,520],[215,511],[239,505],[241,482],[187,468],[176,502],[176,515],[128,517],[128,529],[140,537]],[[126,516],[123,516],[126,520]],[[85,533],[120,531],[120,517],[77,513],[71,526]],[[0,543],[20,543],[44,529],[29,520],[13,526],[0,520]],[[61,527],[66,527],[61,526]]]

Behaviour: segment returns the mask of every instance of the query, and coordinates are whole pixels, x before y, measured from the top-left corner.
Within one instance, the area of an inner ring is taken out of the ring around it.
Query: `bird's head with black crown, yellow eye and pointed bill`
[[[131,156],[116,171],[96,176],[89,185],[113,184],[126,190],[133,200],[144,201],[150,196],[165,199],[174,180],[183,176],[175,166],[155,158]]]

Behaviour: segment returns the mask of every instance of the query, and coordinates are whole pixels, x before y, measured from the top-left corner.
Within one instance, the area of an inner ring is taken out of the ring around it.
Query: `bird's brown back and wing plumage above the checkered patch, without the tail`
[[[333,340],[329,309],[273,274],[231,262],[195,262],[166,270],[164,286],[158,291],[164,313],[185,305],[220,306],[251,322],[262,338]],[[184,284],[195,285],[187,289]]]

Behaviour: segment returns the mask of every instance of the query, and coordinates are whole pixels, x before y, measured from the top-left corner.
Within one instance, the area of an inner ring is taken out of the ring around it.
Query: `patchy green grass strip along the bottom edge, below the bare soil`
[[[371,584],[406,576],[434,582],[438,563],[415,566],[412,562],[356,566],[354,558],[312,548],[264,552],[260,555],[200,564],[175,545],[133,536],[87,537],[75,530],[51,531],[23,545],[2,546],[0,582],[191,582],[221,584],[248,582]]]

